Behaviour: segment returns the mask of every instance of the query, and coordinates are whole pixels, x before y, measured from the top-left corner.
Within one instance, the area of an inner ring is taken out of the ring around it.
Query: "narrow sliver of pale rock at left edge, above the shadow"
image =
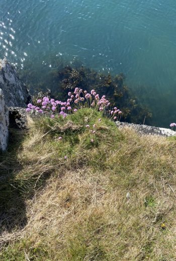
[[[0,89],[0,150],[5,151],[8,143],[9,109],[5,103],[3,90]]]

